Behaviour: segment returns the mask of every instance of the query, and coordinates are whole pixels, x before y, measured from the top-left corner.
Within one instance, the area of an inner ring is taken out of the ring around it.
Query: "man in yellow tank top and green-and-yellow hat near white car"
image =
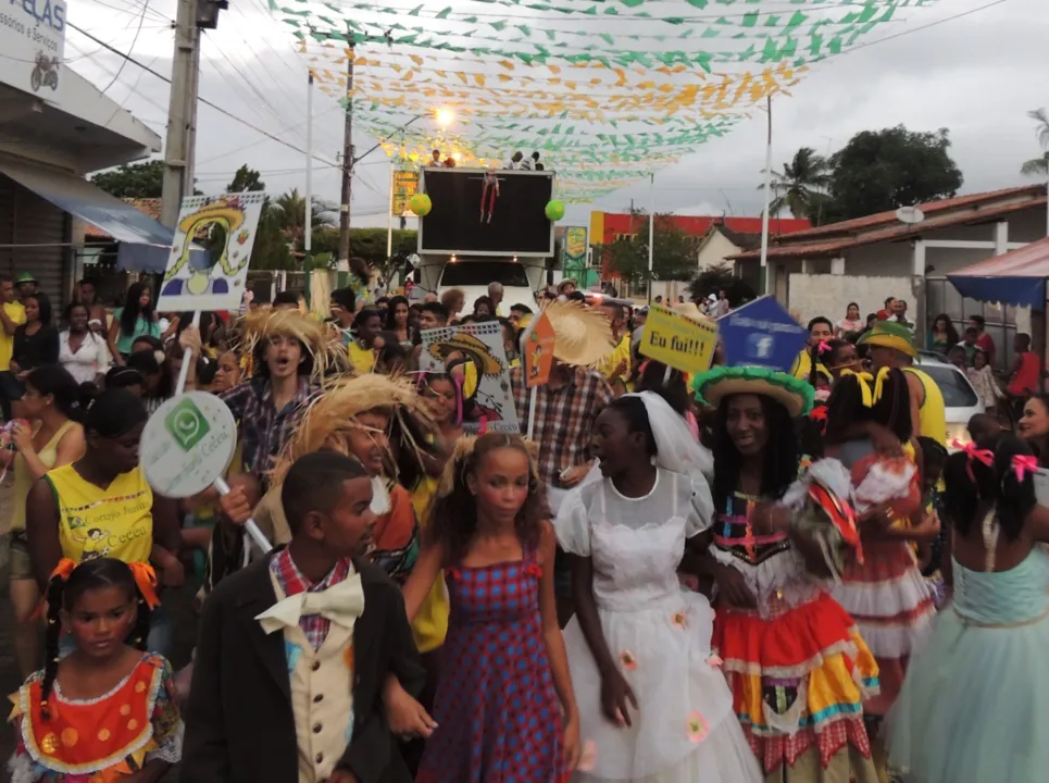
[[[940,446],[947,446],[947,409],[939,386],[928,375],[912,366],[917,351],[914,337],[903,324],[895,321],[878,321],[857,345],[867,346],[871,368],[877,373],[882,368],[902,370],[911,391],[911,422],[914,438],[933,438]],[[919,462],[921,464],[921,462]]]

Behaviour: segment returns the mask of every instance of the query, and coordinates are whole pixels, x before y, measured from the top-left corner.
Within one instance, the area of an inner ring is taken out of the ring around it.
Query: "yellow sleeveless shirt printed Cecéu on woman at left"
[[[153,548],[153,492],[141,468],[121,473],[103,489],[72,464],[45,476],[59,508],[62,557],[77,562],[111,557],[149,562]]]

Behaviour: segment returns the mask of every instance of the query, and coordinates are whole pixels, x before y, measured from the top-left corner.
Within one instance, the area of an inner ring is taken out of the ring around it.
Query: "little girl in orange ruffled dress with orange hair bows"
[[[157,783],[179,760],[171,666],[142,651],[154,585],[145,563],[59,563],[48,584],[47,666],[11,697],[12,783]],[[76,647],[60,661],[63,631]]]

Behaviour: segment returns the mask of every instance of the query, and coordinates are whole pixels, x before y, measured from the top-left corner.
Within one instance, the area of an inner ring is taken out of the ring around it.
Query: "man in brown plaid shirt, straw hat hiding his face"
[[[517,366],[510,371],[510,387],[521,430],[530,432],[539,448],[539,480],[546,486],[550,511],[557,514],[564,496],[594,467],[590,432],[598,414],[614,399],[612,387],[594,368],[612,353],[615,341],[612,325],[601,310],[574,301],[554,301],[544,312],[557,337],[550,380],[528,388],[525,369]],[[533,393],[535,421],[529,430]],[[560,550],[558,555],[558,618],[563,626],[572,616],[572,586],[564,556]]]

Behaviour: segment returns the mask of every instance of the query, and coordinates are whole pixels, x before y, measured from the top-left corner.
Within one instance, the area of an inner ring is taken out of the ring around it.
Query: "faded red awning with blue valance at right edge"
[[[1046,309],[1049,237],[947,275],[959,293],[976,301]]]

